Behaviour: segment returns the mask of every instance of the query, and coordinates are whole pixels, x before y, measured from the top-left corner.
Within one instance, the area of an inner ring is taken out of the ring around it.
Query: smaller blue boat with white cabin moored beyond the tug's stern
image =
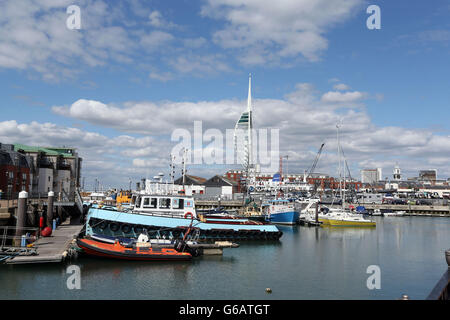
[[[295,225],[299,221],[300,212],[289,200],[271,200],[264,206],[267,221],[275,224]]]

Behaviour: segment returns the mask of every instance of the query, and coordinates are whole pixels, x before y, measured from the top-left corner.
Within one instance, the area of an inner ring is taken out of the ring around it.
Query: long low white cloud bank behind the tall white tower
[[[424,129],[376,126],[364,108],[354,108],[355,103],[361,103],[361,95],[338,93],[340,95],[323,99],[324,95],[311,84],[302,83],[285,99],[254,99],[255,125],[280,129],[280,152],[289,155],[290,172],[309,168],[317,149],[325,142],[317,170],[335,174],[336,123],[342,121],[341,143],[354,176],[358,176],[359,169],[375,164],[382,165],[384,172],[390,172],[396,161],[406,172],[435,166],[441,174],[450,175],[442,160],[450,157],[450,137]],[[225,129],[234,128],[245,108],[245,100],[233,99],[126,102],[122,105],[79,100],[70,107],[54,108],[54,111],[124,132],[125,135],[116,137],[114,143],[117,148],[123,148],[117,151],[121,157],[132,159],[130,167],[165,170],[174,145],[170,142],[173,130],[184,128],[193,134],[193,122],[201,120],[203,132],[217,128],[225,133]],[[128,133],[144,136],[135,138],[126,135]],[[208,170],[212,169],[196,170],[201,175],[202,170],[211,172]]]

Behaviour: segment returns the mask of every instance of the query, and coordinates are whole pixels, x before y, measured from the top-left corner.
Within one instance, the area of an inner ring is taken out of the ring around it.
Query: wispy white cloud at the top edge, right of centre
[[[361,0],[208,0],[202,15],[224,20],[216,43],[240,49],[242,62],[263,64],[297,57],[316,61],[327,49],[326,31],[345,21]]]

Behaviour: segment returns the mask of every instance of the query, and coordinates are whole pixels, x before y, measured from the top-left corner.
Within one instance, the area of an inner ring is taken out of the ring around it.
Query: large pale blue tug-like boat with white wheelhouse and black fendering
[[[129,211],[91,208],[86,217],[86,235],[137,238],[149,236],[181,239],[191,235],[205,240],[278,240],[282,232],[274,225],[248,219],[225,219],[197,215],[192,197],[179,195],[139,195]]]

